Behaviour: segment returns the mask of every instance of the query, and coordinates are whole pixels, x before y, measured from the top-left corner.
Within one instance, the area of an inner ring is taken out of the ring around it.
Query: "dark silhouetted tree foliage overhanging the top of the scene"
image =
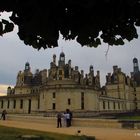
[[[19,38],[36,49],[58,46],[60,33],[82,46],[123,45],[138,38],[140,26],[140,0],[1,0],[3,11],[12,14],[0,21],[0,35],[17,25]]]

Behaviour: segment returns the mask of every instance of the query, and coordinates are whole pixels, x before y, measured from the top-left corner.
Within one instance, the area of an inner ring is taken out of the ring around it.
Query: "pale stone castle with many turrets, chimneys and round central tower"
[[[127,76],[118,66],[106,76],[106,84],[100,85],[100,72],[93,66],[84,74],[71,60],[65,62],[60,53],[50,69],[31,72],[30,64],[17,74],[14,88],[8,87],[7,95],[0,97],[0,111],[10,113],[42,113],[70,109],[73,112],[130,112],[140,110],[140,71],[138,60],[133,59],[134,70]]]

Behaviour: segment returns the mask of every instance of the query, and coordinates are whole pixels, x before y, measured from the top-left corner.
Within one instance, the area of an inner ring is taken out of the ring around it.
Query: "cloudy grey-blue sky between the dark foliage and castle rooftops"
[[[4,14],[4,17],[7,15]],[[60,53],[65,53],[66,62],[71,59],[72,66],[79,66],[79,70],[88,73],[89,66],[93,65],[94,71],[100,71],[101,85],[105,84],[105,76],[112,73],[113,65],[118,65],[124,73],[130,76],[133,71],[132,60],[134,57],[140,61],[140,37],[131,42],[125,41],[123,46],[109,46],[102,43],[98,48],[81,47],[74,40],[65,41],[60,36],[59,47],[51,49],[35,50],[25,45],[17,35],[17,27],[11,33],[0,37],[0,95],[6,93],[8,86],[16,84],[16,76],[19,70],[24,70],[26,62],[30,63],[31,71],[36,69],[49,69],[53,54],[57,61]],[[140,36],[140,29],[138,29]]]

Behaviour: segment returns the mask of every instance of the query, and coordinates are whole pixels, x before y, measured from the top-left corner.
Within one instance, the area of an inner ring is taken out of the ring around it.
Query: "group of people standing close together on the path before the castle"
[[[63,123],[62,123],[63,120]],[[59,127],[70,127],[72,121],[72,112],[69,109],[66,109],[66,112],[57,114],[57,128]]]

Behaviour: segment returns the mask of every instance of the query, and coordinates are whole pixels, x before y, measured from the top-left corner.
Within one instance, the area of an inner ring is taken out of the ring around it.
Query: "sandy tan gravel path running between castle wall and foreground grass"
[[[40,130],[76,135],[81,130],[81,135],[95,136],[97,140],[140,140],[140,130],[116,129],[116,128],[95,128],[95,127],[69,127],[56,128],[55,125],[43,123],[22,122],[13,120],[0,120],[0,125],[16,128]]]

